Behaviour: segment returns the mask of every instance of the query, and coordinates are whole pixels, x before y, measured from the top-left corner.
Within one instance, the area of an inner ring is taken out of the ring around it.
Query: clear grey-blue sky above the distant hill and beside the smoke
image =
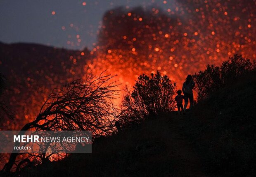
[[[104,13],[115,7],[171,8],[173,0],[1,0],[0,41],[83,49],[97,42]],[[80,42],[77,41],[79,35]],[[68,42],[70,41],[70,42]],[[68,44],[69,43],[69,44]],[[72,44],[73,43],[73,44]]]

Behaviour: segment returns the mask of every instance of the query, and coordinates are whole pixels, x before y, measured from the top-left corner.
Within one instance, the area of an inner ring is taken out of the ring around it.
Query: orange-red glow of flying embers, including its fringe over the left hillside
[[[140,74],[159,70],[161,74],[168,74],[172,81],[178,82],[180,89],[187,74],[205,69],[206,64],[220,65],[235,53],[255,60],[255,29],[252,26],[256,15],[254,11],[246,9],[242,12],[241,3],[234,5],[235,9],[225,4],[221,5],[220,9],[216,7],[215,1],[208,0],[207,4],[206,1],[199,2],[204,4],[190,8],[188,5],[181,5],[177,0],[177,3],[173,1],[164,11],[152,7],[145,14],[130,7],[126,7],[121,14],[115,10],[111,10],[112,13],[109,11],[107,19],[100,24],[102,28],[99,29],[98,37],[101,37],[101,40],[93,44],[93,49],[72,53],[72,56],[68,57],[73,64],[71,67],[63,61],[61,67],[67,76],[64,76],[62,83],[72,81],[74,76],[85,78],[90,72],[97,75],[106,70],[108,74],[117,74],[116,80],[123,85],[133,86]],[[167,0],[166,3],[170,4]],[[176,15],[180,18],[176,18]],[[244,20],[242,16],[245,15]],[[79,25],[73,23],[75,22],[72,21],[65,27],[61,25],[59,29],[62,32],[68,32],[71,28],[77,30]],[[68,34],[66,43],[76,45],[81,42],[80,32],[81,29],[78,29],[76,33]],[[81,44],[81,48],[82,46]],[[84,58],[86,60],[82,60]],[[78,64],[82,69],[78,69]],[[34,119],[52,88],[60,87],[55,83],[55,80],[59,79],[57,76],[46,74],[52,71],[52,68],[50,69],[43,73],[36,71],[42,76],[47,76],[50,84],[33,92],[29,103],[35,106],[31,109],[31,105],[24,103],[24,109],[20,111],[22,113],[17,114],[18,119],[24,119],[24,122]],[[26,87],[31,87],[35,82],[33,77],[29,78],[30,80],[28,77],[25,79]],[[21,90],[15,89],[15,93],[19,92]]]

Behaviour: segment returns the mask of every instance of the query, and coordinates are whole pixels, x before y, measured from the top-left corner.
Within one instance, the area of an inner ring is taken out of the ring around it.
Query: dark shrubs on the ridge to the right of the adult
[[[193,75],[196,83],[195,90],[198,94],[197,100],[201,101],[239,76],[255,71],[255,66],[255,62],[251,63],[249,59],[237,54],[223,62],[220,67],[208,64],[206,70]]]

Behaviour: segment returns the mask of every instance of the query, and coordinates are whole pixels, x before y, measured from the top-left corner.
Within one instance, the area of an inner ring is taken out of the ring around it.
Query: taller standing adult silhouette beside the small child
[[[187,75],[186,81],[183,83],[182,92],[184,94],[184,111],[187,109],[188,100],[190,100],[190,108],[193,106],[194,96],[193,96],[193,88],[194,88],[194,80],[192,76]]]

